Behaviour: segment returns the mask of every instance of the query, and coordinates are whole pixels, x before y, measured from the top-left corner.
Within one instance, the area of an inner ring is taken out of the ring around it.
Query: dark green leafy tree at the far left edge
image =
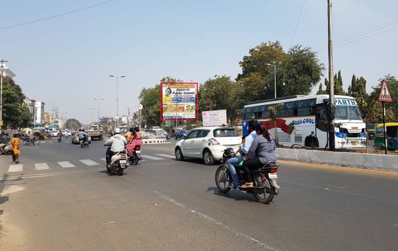
[[[25,95],[19,85],[8,76],[3,78],[3,123],[12,128],[27,127],[31,123]]]

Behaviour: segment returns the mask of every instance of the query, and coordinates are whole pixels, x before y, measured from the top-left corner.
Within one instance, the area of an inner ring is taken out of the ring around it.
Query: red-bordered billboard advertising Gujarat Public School
[[[197,120],[197,83],[160,83],[160,120]]]

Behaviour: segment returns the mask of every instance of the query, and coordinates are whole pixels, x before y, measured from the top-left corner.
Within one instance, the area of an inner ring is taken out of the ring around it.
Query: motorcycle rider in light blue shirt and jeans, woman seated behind
[[[232,176],[232,181],[233,184],[230,183],[229,187],[233,188],[240,188],[240,183],[239,183],[239,178],[237,177],[235,167],[233,165],[239,164],[241,161],[243,161],[243,155],[247,154],[248,149],[251,146],[251,143],[254,141],[254,139],[257,137],[257,127],[260,126],[260,122],[258,120],[250,120],[248,121],[248,132],[249,134],[245,137],[245,142],[242,145],[239,153],[240,157],[233,157],[229,158],[226,161],[226,164],[228,165],[229,173]]]

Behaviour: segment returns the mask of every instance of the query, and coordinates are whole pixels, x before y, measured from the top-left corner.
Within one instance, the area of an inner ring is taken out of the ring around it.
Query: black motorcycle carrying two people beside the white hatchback
[[[222,163],[215,171],[215,184],[220,192],[228,192],[231,189],[229,183],[232,182],[232,176],[226,161],[235,156],[236,153],[232,148],[226,148],[223,151]],[[280,187],[276,183],[278,167],[278,164],[269,161],[260,168],[251,169],[250,174],[253,177],[253,187],[239,189],[252,194],[254,199],[260,203],[269,203],[279,193]],[[244,184],[246,178],[242,166],[235,165],[235,169],[240,184]]]

